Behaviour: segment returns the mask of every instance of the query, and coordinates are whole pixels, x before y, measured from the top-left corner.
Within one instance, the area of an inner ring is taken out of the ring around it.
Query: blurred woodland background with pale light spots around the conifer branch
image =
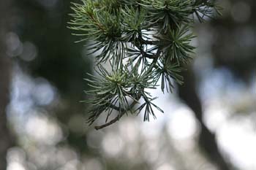
[[[185,84],[152,92],[165,114],[95,131],[70,1],[0,0],[0,170],[256,170],[256,2],[219,3]]]

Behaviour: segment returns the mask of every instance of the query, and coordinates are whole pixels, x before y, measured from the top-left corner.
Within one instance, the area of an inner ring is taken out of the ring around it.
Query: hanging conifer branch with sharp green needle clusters
[[[172,91],[182,84],[180,73],[195,47],[192,24],[219,13],[214,0],[81,0],[72,3],[69,28],[96,55],[95,71],[87,80],[91,90],[88,122],[105,114],[105,128],[124,114],[143,112],[144,121],[154,111],[156,96],[148,89]],[[110,63],[106,69],[102,63]],[[110,116],[113,111],[118,114]]]

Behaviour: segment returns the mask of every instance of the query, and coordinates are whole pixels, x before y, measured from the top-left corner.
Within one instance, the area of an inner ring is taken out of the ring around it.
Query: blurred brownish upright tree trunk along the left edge
[[[5,35],[8,30],[7,13],[10,0],[0,1],[0,170],[7,169],[6,155],[11,146],[11,135],[7,128],[7,104],[10,100],[11,58],[6,55]]]

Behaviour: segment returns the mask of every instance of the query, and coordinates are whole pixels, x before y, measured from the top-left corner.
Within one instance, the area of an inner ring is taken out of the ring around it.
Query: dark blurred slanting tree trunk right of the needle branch
[[[195,117],[200,123],[199,147],[205,153],[211,163],[214,163],[219,170],[230,170],[231,166],[222,157],[219,151],[215,134],[213,134],[203,122],[203,110],[200,98],[197,96],[195,88],[195,77],[192,70],[184,72],[184,85],[179,86],[180,98],[190,107],[195,113]]]

